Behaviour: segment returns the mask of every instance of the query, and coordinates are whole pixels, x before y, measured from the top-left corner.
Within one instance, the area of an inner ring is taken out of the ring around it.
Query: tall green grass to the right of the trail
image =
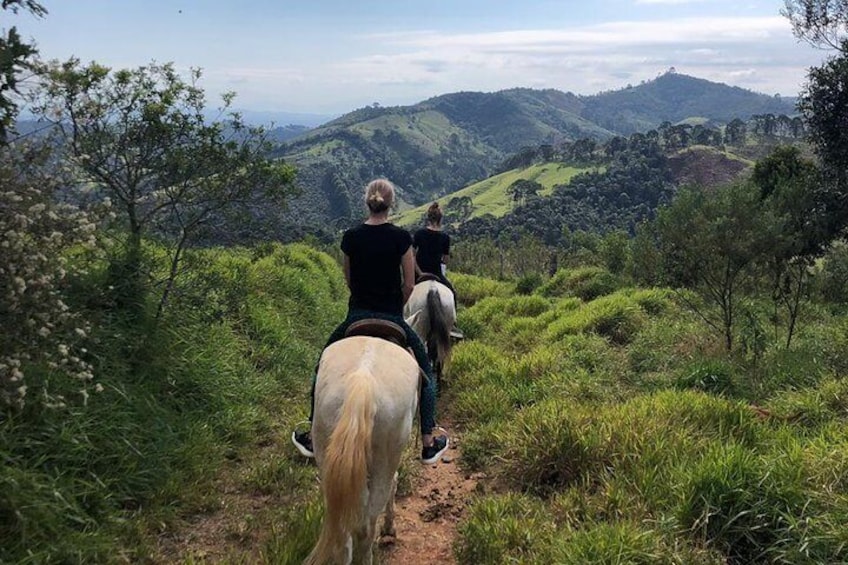
[[[791,351],[753,360],[601,268],[530,296],[454,284],[451,410],[497,485],[459,563],[846,562],[844,320],[811,308]]]

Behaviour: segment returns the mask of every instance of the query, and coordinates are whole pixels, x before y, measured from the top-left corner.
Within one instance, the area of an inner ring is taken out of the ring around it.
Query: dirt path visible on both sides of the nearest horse
[[[426,565],[455,563],[456,527],[480,477],[462,471],[461,436],[451,428],[451,447],[444,459],[417,470],[412,494],[395,504],[397,538],[382,539],[379,563]],[[204,508],[177,528],[164,528],[149,561],[156,564],[263,563],[261,552],[274,522],[273,511],[288,504],[284,493],[258,493],[245,483],[258,461],[291,449],[287,441],[263,442],[246,461],[232,460],[222,469],[215,494]],[[305,463],[308,464],[308,463]]]

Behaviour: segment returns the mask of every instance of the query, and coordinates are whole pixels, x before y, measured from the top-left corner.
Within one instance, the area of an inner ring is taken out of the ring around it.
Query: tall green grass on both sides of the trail
[[[341,271],[303,245],[194,259],[145,346],[101,320],[106,391],[88,410],[0,422],[0,561],[144,561],[151,533],[220,509],[237,468],[257,504],[221,532],[225,560],[305,557],[315,470],[287,435],[344,312]],[[440,410],[464,428],[463,464],[497,487],[459,526],[460,563],[848,559],[844,320],[811,308],[791,351],[754,363],[672,293],[601,268],[530,296],[453,281],[469,339]]]

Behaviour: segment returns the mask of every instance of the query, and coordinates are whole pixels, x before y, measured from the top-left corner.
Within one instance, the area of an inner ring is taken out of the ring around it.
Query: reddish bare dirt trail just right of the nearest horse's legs
[[[380,562],[389,565],[455,563],[456,526],[477,488],[478,476],[458,466],[461,441],[441,463],[429,465],[413,481],[413,492],[395,503],[397,538],[381,540]]]

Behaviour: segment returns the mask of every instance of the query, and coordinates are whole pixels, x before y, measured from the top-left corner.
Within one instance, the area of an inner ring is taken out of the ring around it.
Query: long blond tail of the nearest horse
[[[324,525],[305,565],[335,562],[334,553],[345,546],[365,511],[374,428],[374,382],[364,370],[351,373],[347,379],[347,396],[321,465]]]

